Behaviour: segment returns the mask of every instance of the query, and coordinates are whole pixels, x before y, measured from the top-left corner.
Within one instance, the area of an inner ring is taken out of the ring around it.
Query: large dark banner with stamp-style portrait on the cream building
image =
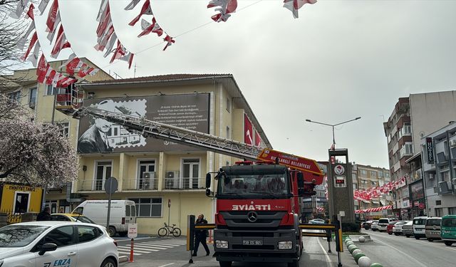
[[[96,98],[84,100],[83,105],[209,133],[209,93]],[[140,133],[128,132],[122,125],[90,115],[81,118],[78,136],[78,152],[83,154],[197,150],[175,142],[145,138]]]

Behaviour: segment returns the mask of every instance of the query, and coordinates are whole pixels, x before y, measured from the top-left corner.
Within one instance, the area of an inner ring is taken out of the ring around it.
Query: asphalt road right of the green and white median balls
[[[413,237],[389,235],[364,231],[371,236],[372,242],[359,243],[356,246],[371,258],[372,262],[384,267],[452,267],[456,266],[456,246],[445,246],[442,241],[429,242]]]

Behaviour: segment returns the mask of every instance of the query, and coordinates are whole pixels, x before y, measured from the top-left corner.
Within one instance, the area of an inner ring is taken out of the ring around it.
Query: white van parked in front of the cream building
[[[82,214],[95,221],[96,224],[106,226],[108,219],[108,200],[86,200],[79,204],[73,213]],[[128,224],[136,223],[135,201],[111,200],[111,212],[109,216],[109,236],[127,236]]]

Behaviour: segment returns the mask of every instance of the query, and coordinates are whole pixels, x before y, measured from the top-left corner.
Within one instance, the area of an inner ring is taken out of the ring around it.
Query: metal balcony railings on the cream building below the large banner
[[[123,179],[122,190],[158,190],[158,178],[149,179]],[[120,181],[119,181],[120,182]],[[105,181],[98,179],[78,180],[78,191],[104,192]],[[120,187],[119,187],[120,189]],[[162,190],[195,190],[205,189],[205,178],[164,178],[162,179]]]

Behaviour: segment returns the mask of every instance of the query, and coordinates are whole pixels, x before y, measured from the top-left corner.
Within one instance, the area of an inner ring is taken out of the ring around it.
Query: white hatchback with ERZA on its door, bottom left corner
[[[116,267],[117,244],[103,226],[31,221],[0,228],[0,266]]]

